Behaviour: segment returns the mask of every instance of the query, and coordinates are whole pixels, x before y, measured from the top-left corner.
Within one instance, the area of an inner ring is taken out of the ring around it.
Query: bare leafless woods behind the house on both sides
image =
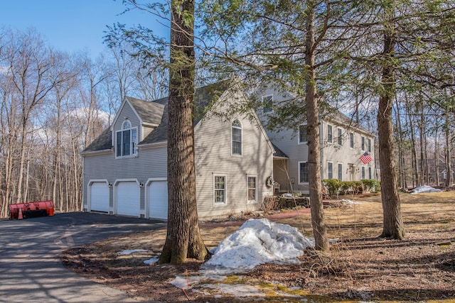
[[[401,187],[452,183],[453,43],[449,38],[442,45],[432,70],[414,75],[402,69],[407,77],[400,78],[393,106]],[[167,94],[164,48],[140,55],[141,45],[115,35],[107,46],[94,60],[84,52],[55,50],[36,31],[0,28],[0,217],[8,216],[8,204],[46,199],[57,211],[80,210],[80,152],[109,126],[125,95],[154,100]],[[210,82],[208,70],[198,76]],[[377,133],[377,95],[365,83],[338,87],[344,92],[328,98],[331,105]]]

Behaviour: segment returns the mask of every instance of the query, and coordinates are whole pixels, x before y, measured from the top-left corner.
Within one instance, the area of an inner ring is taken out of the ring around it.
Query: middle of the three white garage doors
[[[117,214],[139,216],[139,184],[119,182],[117,190]]]

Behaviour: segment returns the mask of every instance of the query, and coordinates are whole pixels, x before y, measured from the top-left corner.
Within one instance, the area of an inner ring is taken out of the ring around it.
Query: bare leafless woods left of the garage
[[[143,64],[126,47],[93,60],[53,49],[36,31],[0,28],[0,217],[8,204],[48,199],[57,211],[81,209],[81,151],[126,94],[166,91],[166,72]]]

